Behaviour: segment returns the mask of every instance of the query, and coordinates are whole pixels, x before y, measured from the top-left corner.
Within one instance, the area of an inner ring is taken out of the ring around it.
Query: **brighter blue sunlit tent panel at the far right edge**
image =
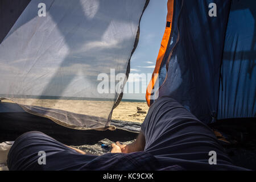
[[[256,1],[232,1],[221,68],[218,119],[256,117]]]

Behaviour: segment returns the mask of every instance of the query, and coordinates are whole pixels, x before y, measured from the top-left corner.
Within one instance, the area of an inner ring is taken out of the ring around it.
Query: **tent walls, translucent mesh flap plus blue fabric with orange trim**
[[[41,2],[0,1],[1,98],[71,129],[114,130],[126,78],[109,81],[109,93],[98,84],[113,69],[128,75],[149,1]],[[171,96],[204,123],[255,118],[256,2],[168,0],[167,9],[148,106]],[[65,107],[73,100],[82,111]]]

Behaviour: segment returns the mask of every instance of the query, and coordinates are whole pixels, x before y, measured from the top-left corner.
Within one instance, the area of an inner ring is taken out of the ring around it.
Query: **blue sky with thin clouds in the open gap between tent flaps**
[[[130,75],[126,83],[126,86],[134,84],[136,93],[124,93],[123,99],[145,100],[147,84],[150,81],[149,75],[154,71],[166,27],[166,15],[167,0],[150,0],[142,15],[139,43],[131,56]],[[139,79],[142,77],[141,74],[146,75],[146,81],[144,78]]]

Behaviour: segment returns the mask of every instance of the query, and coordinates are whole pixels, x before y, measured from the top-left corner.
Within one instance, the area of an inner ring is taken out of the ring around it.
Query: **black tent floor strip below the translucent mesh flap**
[[[113,124],[117,123],[113,121]],[[120,121],[117,123],[118,127],[123,129],[137,131],[130,132],[126,130],[117,129],[114,131],[96,131],[96,130],[75,130],[64,126],[57,125],[48,118],[39,117],[26,112],[17,113],[0,113],[0,143],[5,141],[14,141],[19,135],[27,131],[41,131],[61,143],[80,146],[82,144],[95,144],[98,141],[108,138],[109,140],[119,140],[125,142],[133,140],[137,137],[139,131],[138,123],[131,128],[131,124]]]

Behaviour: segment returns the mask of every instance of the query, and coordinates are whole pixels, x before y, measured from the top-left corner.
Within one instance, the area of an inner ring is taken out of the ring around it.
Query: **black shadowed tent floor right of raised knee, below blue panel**
[[[222,119],[210,124],[230,143],[222,142],[226,153],[237,166],[256,170],[256,122],[255,118]]]

